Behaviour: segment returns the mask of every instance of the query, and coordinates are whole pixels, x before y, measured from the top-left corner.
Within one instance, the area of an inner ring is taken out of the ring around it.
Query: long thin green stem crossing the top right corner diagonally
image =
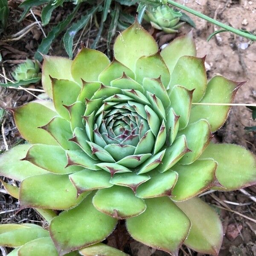
[[[239,29],[235,29],[235,28],[233,28],[231,26],[228,26],[228,25],[226,25],[224,23],[221,23],[221,22],[219,22],[217,20],[214,20],[214,19],[208,17],[207,15],[202,14],[201,12],[197,12],[197,11],[195,11],[193,9],[190,9],[189,7],[183,6],[183,4],[176,3],[173,0],[167,0],[167,3],[169,3],[172,6],[175,6],[177,8],[180,8],[180,9],[186,11],[186,12],[189,12],[189,13],[195,15],[195,16],[198,16],[198,17],[200,17],[200,18],[202,18],[204,20],[207,20],[210,23],[212,23],[212,24],[214,24],[216,26],[219,26],[219,27],[221,27],[223,29],[226,29],[229,32],[233,32],[236,35],[241,35],[242,37],[248,38],[248,39],[250,39],[252,41],[256,41],[256,36],[255,35],[251,35],[251,34],[249,34],[247,32],[243,32],[243,31],[241,31]]]

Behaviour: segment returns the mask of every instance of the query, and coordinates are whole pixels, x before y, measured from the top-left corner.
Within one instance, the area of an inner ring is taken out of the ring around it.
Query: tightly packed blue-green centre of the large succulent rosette
[[[164,151],[157,153],[166,143],[166,121],[156,108],[159,99],[134,89],[121,92],[87,101],[87,109],[93,101],[101,102],[83,116],[87,143],[91,153],[104,162],[97,165],[108,172],[114,173],[113,167],[118,166],[122,166],[119,172],[149,172],[160,163]]]

